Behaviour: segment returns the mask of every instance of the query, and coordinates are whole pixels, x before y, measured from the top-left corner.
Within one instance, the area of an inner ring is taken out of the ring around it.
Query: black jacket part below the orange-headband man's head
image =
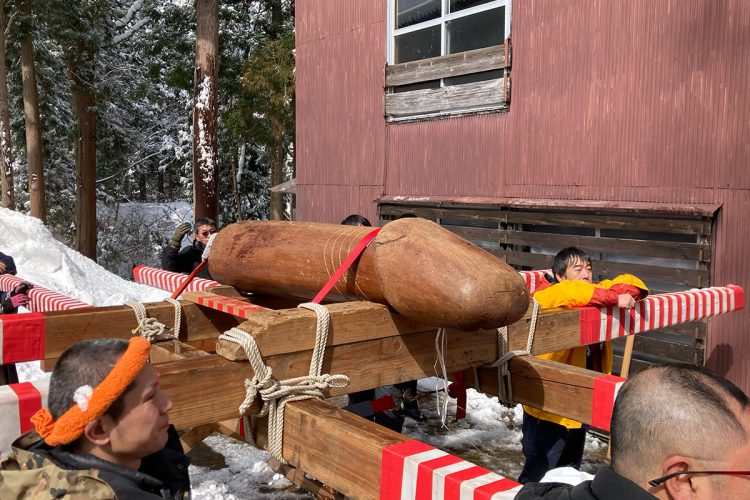
[[[137,471],[93,455],[73,454],[60,446],[50,448],[41,440],[32,445],[29,451],[49,458],[63,469],[97,470],[99,477],[114,490],[120,500],[190,498],[190,459],[183,453],[180,438],[171,425],[167,445],[143,458]]]

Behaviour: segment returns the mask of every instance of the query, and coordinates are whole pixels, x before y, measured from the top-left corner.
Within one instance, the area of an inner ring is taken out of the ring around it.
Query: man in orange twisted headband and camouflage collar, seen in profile
[[[50,378],[49,408],[2,464],[0,498],[188,498],[188,459],[149,352],[141,337],[67,349]]]

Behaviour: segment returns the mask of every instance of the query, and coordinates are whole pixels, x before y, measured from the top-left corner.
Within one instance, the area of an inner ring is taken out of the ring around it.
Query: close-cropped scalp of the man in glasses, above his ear
[[[628,380],[612,415],[612,468],[638,483],[661,475],[674,455],[720,459],[745,443],[739,416],[750,401],[703,368],[665,365]]]

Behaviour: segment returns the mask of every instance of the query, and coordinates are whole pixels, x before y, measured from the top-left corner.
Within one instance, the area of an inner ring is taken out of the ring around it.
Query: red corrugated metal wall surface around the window
[[[750,286],[750,4],[514,1],[509,112],[388,126],[385,15],[297,1],[300,218],[374,217],[381,193],[722,203],[713,282]],[[707,346],[745,389],[748,320]]]

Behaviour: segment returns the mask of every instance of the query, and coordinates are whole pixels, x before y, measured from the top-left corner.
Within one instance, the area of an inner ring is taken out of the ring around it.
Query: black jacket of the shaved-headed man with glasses
[[[516,500],[652,500],[656,498],[610,467],[602,467],[591,481],[576,486],[562,483],[528,483]]]

